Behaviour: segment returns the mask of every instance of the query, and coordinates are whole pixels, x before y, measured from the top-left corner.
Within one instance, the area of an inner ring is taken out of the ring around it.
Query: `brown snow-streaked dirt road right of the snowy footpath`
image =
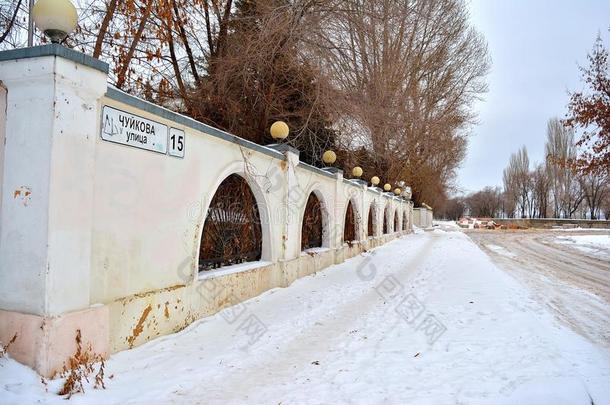
[[[564,235],[553,231],[466,233],[559,320],[591,341],[610,347],[609,261],[557,243],[556,237]]]

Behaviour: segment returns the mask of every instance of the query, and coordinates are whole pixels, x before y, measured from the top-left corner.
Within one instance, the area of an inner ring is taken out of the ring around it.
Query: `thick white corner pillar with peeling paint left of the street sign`
[[[105,354],[108,315],[91,307],[99,100],[108,66],[60,45],[0,53],[6,145],[0,205],[0,340],[45,376],[74,353],[76,330]]]

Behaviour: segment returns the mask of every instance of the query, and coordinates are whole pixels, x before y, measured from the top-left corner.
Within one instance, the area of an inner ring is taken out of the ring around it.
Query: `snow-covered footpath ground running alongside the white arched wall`
[[[244,316],[265,325],[260,339]],[[71,401],[610,404],[610,352],[466,235],[438,229],[118,353],[106,375],[106,390]],[[65,404],[58,384],[45,392],[35,373],[0,360],[1,403]]]

